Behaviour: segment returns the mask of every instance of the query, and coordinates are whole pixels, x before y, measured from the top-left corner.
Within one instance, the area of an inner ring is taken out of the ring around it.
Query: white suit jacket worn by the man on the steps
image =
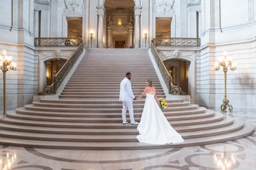
[[[120,83],[120,101],[131,102],[134,98],[131,81],[125,77]]]

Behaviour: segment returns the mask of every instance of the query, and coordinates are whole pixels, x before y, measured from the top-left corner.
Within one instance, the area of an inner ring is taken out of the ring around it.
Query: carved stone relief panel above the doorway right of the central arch
[[[155,14],[170,14],[175,13],[175,0],[154,0],[154,13]]]

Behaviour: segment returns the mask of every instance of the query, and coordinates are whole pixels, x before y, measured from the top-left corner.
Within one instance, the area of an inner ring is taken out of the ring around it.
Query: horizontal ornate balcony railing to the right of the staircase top
[[[152,44],[163,47],[199,47],[200,38],[154,38]]]

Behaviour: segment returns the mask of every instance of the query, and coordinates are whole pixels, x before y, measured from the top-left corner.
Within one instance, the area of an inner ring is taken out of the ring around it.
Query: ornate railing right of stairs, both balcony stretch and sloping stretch
[[[174,39],[174,40],[172,40]],[[179,40],[180,39],[180,40]],[[167,40],[167,41],[166,41]],[[166,69],[161,57],[159,56],[157,46],[200,46],[200,39],[198,38],[154,38],[151,41],[151,52],[156,60],[157,66],[164,78],[164,82],[169,89],[169,93],[175,95],[186,95],[184,91],[178,86],[173,84],[173,79],[168,70]]]

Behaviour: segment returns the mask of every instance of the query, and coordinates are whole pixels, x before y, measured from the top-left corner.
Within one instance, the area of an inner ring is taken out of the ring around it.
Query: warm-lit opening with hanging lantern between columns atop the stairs
[[[134,1],[106,0],[104,7],[106,22],[104,37],[106,47],[131,48],[134,46]]]

